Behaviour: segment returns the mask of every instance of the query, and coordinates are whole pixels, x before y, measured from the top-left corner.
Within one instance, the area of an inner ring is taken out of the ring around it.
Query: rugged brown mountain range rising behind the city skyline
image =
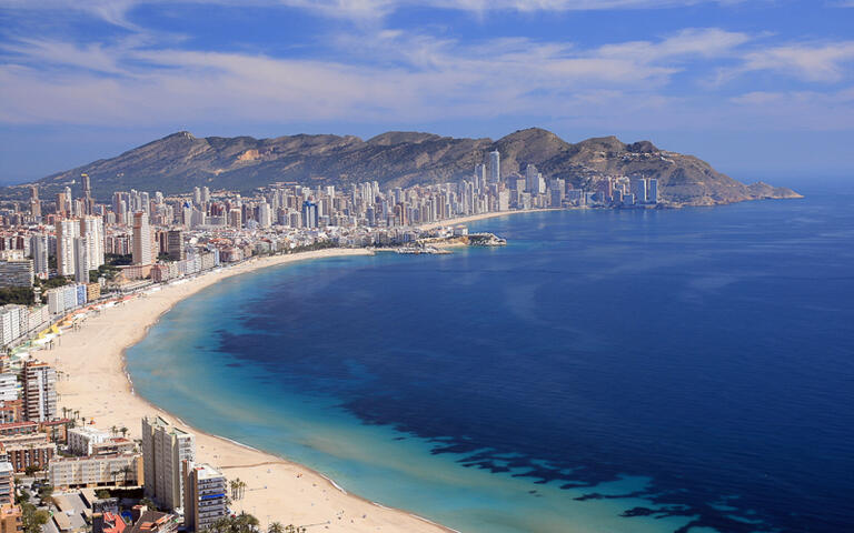
[[[672,205],[800,197],[762,182],[744,184],[693,155],[661,150],[648,141],[625,144],[605,137],[573,144],[539,128],[519,130],[497,141],[401,131],[367,141],[330,134],[197,138],[181,131],[36,183],[44,199],[64,187],[71,187],[77,195],[80,174],[87,173],[101,201],[109,200],[113,191],[130,189],[176,194],[207,185],[250,192],[274,182],[346,185],[374,180],[384,188],[409,187],[469,179],[475,165],[493,150],[502,153],[504,178],[524,172],[527,164],[535,164],[546,179],[563,178],[576,188],[602,175],[657,178],[662,199]],[[6,198],[24,193],[24,185],[0,191]]]

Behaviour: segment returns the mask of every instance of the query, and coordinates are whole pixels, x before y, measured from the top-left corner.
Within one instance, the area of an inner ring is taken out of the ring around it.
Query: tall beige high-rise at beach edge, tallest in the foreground
[[[142,461],[146,496],[161,507],[183,505],[183,461],[196,460],[196,436],[160,416],[142,419]]]

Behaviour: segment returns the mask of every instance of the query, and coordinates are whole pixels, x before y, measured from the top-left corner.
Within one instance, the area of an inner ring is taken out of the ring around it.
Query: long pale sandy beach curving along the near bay
[[[172,305],[206,286],[266,266],[369,253],[332,249],[277,255],[167,285],[90,315],[78,330],[66,331],[53,350],[36,351],[32,356],[54,364],[60,372],[57,383],[60,411],[63,406],[80,411],[80,416],[87,421],[95,419],[96,426],[105,430],[125,426],[133,439],[140,436],[140,419],[145,415],[159,414],[195,433],[197,461],[222,469],[228,479],[240,477],[248,483],[246,496],[234,502],[232,507],[254,514],[264,529],[278,521],[305,525],[308,531],[451,531],[347,494],[319,473],[282,457],[180,424],[175,416],[136,395],[125,371],[125,350],[139,342],[148,328]]]

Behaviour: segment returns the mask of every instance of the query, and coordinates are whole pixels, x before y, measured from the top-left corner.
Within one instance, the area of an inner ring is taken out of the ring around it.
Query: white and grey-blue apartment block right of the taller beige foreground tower
[[[226,476],[209,464],[185,463],[183,526],[205,531],[226,515]]]

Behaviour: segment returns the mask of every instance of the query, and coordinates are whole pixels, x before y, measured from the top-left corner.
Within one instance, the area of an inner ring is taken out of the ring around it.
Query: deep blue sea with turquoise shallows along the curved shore
[[[854,190],[806,192],[267,269],[181,302],[129,370],[466,532],[852,531]]]

